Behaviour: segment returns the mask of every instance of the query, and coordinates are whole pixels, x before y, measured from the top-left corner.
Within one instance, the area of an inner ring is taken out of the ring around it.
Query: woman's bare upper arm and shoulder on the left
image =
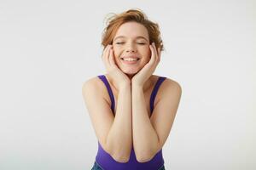
[[[99,77],[92,77],[82,85],[84,104],[95,129],[96,137],[102,144],[103,149],[110,153],[106,141],[114,116],[108,100],[105,99],[106,93],[108,91]]]

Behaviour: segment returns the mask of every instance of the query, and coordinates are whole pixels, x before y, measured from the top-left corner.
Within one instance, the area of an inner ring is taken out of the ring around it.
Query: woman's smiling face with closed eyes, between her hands
[[[134,75],[150,59],[148,30],[137,22],[126,22],[113,37],[116,65],[128,75]]]

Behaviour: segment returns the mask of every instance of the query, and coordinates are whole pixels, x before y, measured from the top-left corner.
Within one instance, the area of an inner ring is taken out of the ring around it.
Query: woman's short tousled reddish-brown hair
[[[142,24],[148,30],[148,37],[150,44],[154,42],[156,49],[160,48],[163,51],[164,46],[160,37],[160,28],[157,23],[148,20],[146,14],[141,9],[131,8],[121,14],[113,14],[107,20],[107,26],[102,32],[102,46],[106,48],[108,44],[113,44],[113,37],[119,29],[119,26],[126,22],[135,21]]]

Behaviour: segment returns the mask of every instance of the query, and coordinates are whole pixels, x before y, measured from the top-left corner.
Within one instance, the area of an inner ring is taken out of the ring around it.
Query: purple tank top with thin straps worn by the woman
[[[114,112],[115,104],[114,104],[113,92],[110,88],[108,80],[104,75],[100,75],[98,77],[102,80],[102,82],[104,82],[106,88],[108,89],[108,94],[111,99],[111,109]],[[154,110],[154,98],[157,94],[158,89],[160,88],[161,82],[163,82],[165,79],[166,77],[159,77],[159,79],[155,83],[154,89],[150,96],[151,115]],[[100,167],[102,167],[103,170],[135,170],[135,169],[157,170],[164,165],[165,161],[162,156],[162,150],[160,150],[158,153],[155,154],[155,156],[150,161],[139,162],[136,159],[135,152],[132,147],[130,160],[125,163],[118,162],[118,161],[115,161],[113,157],[108,154],[108,152],[103,150],[102,145],[98,141],[98,152],[96,155],[96,162],[100,165]]]

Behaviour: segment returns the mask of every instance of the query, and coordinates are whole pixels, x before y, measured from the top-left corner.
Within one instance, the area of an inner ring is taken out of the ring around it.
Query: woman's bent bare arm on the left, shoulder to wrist
[[[115,161],[129,161],[131,154],[131,86],[119,89],[117,111],[115,117],[110,105],[102,96],[100,89],[107,89],[96,85],[98,80],[84,83],[83,96],[92,125],[96,131],[102,148]],[[108,93],[108,92],[105,92]]]

